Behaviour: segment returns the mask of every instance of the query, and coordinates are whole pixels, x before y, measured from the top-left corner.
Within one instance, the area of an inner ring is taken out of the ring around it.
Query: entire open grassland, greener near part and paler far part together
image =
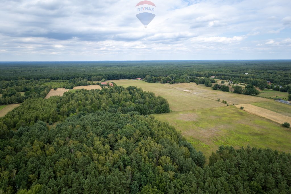
[[[222,144],[236,148],[250,145],[291,151],[291,130],[232,106],[249,103],[265,105],[274,103],[274,100],[217,91],[195,83],[171,85],[138,80],[114,80],[114,83],[124,87],[141,87],[166,98],[172,111],[169,114],[155,114],[155,118],[175,126],[206,158]],[[217,98],[221,101],[217,102]],[[274,107],[277,111],[281,109],[280,106]],[[285,111],[288,114],[286,109],[282,109],[282,112]]]

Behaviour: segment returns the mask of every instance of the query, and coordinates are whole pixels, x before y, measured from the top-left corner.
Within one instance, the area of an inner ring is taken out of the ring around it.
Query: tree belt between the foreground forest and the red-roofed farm
[[[83,89],[66,92],[62,97],[27,99],[0,118],[0,134],[4,135],[13,128],[31,126],[37,121],[64,121],[70,115],[84,115],[97,110],[122,114],[137,112],[143,115],[170,112],[166,99],[140,88],[115,86],[102,90]]]

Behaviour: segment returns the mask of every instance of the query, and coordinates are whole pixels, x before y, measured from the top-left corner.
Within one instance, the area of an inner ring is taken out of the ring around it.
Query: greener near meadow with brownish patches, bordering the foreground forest
[[[290,129],[234,106],[155,114],[155,118],[175,126],[206,157],[222,144],[291,151]]]

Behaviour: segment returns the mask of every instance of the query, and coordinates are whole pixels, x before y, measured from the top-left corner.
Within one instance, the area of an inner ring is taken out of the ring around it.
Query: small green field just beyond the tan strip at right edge
[[[265,108],[268,110],[272,110],[274,112],[291,117],[291,105],[288,105],[288,104],[271,101],[271,102],[262,102],[262,103],[252,103],[252,105]]]

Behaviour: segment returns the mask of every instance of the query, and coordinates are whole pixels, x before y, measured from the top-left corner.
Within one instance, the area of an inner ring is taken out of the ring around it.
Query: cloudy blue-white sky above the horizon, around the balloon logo
[[[0,61],[291,59],[290,0],[0,0]]]

